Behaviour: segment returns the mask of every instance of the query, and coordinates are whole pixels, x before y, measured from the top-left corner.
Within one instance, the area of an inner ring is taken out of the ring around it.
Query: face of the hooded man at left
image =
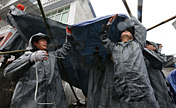
[[[39,39],[38,42],[34,42],[34,45],[40,50],[46,50],[48,48],[46,39]]]

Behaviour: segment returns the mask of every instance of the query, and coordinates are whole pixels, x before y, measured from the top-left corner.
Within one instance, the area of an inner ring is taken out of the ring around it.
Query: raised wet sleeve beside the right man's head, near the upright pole
[[[131,25],[134,26],[134,38],[139,43],[141,49],[145,48],[146,45],[146,34],[147,30],[135,17],[131,18]]]

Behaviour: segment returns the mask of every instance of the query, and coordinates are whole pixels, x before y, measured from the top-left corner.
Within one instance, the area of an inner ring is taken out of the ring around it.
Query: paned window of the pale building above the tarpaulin
[[[69,10],[70,7],[66,7],[64,9],[60,9],[52,13],[49,13],[46,15],[46,17],[66,24],[68,22]]]

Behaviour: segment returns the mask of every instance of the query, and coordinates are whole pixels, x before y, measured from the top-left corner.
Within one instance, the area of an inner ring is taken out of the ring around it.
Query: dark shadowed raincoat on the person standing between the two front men
[[[94,53],[95,65],[90,69],[87,108],[109,108],[112,93],[113,62],[107,54],[105,61]]]

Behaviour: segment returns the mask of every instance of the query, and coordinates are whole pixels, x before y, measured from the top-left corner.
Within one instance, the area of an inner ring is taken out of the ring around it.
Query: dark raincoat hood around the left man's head
[[[47,36],[43,33],[37,33],[37,34],[32,35],[31,38],[29,39],[27,49],[33,50],[33,51],[38,50],[38,48],[33,44],[33,42],[36,40],[39,40],[39,39],[43,39],[43,38],[46,39],[47,43],[49,44],[49,42],[50,42],[49,36]]]

